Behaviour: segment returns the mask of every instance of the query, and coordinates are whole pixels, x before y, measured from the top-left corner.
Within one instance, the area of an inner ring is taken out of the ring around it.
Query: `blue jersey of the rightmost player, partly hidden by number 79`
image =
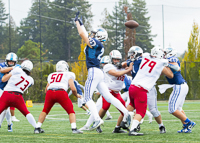
[[[170,63],[175,62],[175,63],[178,63],[178,65],[180,66],[180,61],[177,57],[172,56],[172,57],[169,57],[167,59]],[[169,82],[169,84],[182,84],[182,83],[185,82],[185,79],[182,77],[180,71],[174,73],[174,77],[172,79],[170,79],[168,77],[166,77],[166,78],[167,78],[167,81]]]

